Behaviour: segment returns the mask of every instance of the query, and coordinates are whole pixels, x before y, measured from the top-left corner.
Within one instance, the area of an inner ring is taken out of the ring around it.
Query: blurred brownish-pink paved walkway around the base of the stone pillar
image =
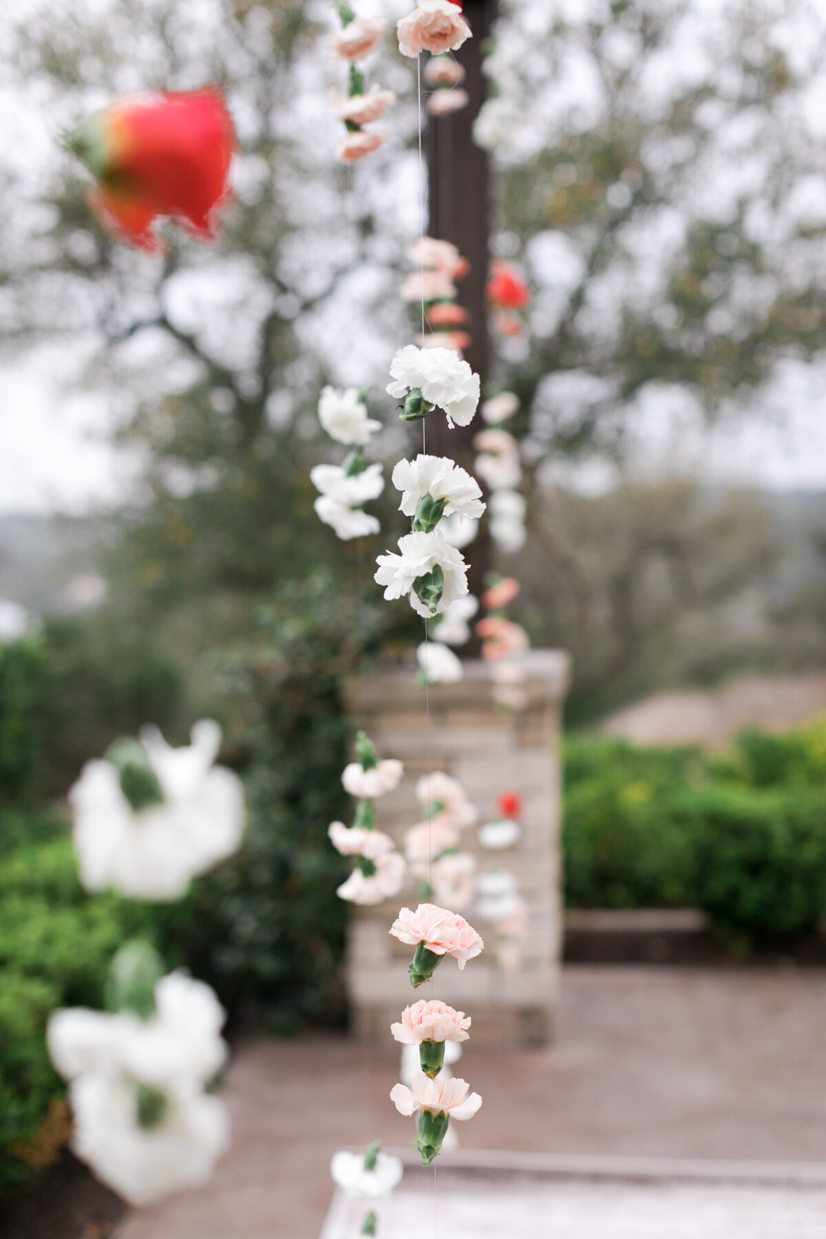
[[[675,1157],[826,1158],[826,974],[571,968],[556,1044],[473,1049],[484,1105],[463,1147]],[[235,1139],[209,1187],[140,1213],[118,1239],[317,1239],[342,1145],[402,1146],[393,1044],[240,1048]]]

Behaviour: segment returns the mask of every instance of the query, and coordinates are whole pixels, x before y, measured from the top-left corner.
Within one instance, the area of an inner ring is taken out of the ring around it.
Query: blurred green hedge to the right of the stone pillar
[[[565,756],[575,907],[703,908],[732,940],[826,912],[826,724],[743,733],[724,758],[575,736]]]

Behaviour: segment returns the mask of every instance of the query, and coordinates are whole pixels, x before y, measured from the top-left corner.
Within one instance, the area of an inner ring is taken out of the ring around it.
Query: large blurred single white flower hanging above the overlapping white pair
[[[191,878],[230,856],[244,831],[240,779],[213,766],[220,727],[197,722],[192,745],[171,748],[156,727],[141,731],[150,777],[162,800],[135,809],[110,761],[87,762],[69,790],[74,850],[88,891],[114,887],[133,900],[178,900]]]

